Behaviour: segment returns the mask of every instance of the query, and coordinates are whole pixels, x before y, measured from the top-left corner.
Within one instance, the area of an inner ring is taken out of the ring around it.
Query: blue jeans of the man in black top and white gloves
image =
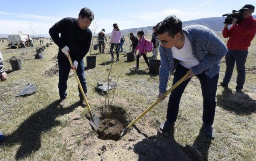
[[[59,88],[59,94],[60,94],[60,99],[65,99],[67,97],[67,81],[68,81],[68,75],[69,71],[71,69],[70,64],[66,64],[65,62],[58,60],[59,64],[59,83],[58,83],[58,88]],[[87,95],[87,85],[86,85],[86,80],[84,76],[84,61],[81,60],[78,62],[78,66],[76,69],[76,73],[78,75],[79,81],[83,87],[84,94]],[[83,99],[83,95],[79,89],[79,97]]]

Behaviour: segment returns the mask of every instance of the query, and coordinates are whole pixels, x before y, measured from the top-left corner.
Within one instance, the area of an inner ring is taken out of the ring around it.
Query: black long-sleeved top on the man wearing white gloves
[[[64,18],[56,22],[50,30],[53,41],[59,46],[57,58],[68,63],[68,57],[61,51],[65,45],[70,50],[72,61],[80,62],[90,49],[92,32],[89,28],[82,30],[75,18]],[[60,36],[59,36],[60,34]]]

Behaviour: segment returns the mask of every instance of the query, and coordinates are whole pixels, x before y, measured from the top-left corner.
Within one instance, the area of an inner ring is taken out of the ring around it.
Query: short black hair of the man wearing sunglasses
[[[179,32],[182,33],[182,22],[175,15],[170,15],[155,26],[156,34],[168,32],[168,35],[174,37]]]

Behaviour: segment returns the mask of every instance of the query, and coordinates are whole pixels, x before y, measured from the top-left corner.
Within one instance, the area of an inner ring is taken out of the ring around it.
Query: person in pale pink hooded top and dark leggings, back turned
[[[116,53],[117,53],[117,60],[119,61],[119,45],[120,45],[120,39],[121,39],[121,31],[117,25],[117,23],[113,24],[113,31],[111,33],[111,38],[110,38],[110,53],[111,53],[111,59],[110,61],[115,61],[114,59],[114,54],[113,54],[113,49],[115,47]]]

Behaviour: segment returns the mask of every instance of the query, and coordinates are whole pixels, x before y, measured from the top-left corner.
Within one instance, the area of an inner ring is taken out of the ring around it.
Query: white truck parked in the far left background
[[[27,34],[15,34],[15,35],[9,35],[8,36],[8,46],[11,48],[26,48],[27,40],[30,38],[31,41],[33,41],[32,37]]]

